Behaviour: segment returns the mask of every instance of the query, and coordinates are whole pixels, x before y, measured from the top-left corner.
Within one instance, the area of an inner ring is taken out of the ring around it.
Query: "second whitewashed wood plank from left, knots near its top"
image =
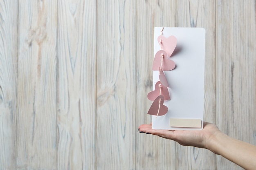
[[[17,169],[56,169],[56,1],[19,0]]]

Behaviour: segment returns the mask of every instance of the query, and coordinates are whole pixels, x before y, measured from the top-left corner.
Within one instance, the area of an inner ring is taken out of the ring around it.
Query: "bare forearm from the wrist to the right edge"
[[[229,159],[246,170],[256,168],[256,146],[218,132],[209,139],[207,149]]]

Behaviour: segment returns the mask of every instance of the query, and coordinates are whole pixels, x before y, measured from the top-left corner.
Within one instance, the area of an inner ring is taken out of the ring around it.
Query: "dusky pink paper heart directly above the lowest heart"
[[[158,81],[155,84],[155,90],[148,93],[148,99],[151,101],[154,101],[157,96],[162,95],[162,96],[164,96],[164,100],[170,100],[171,98],[169,95],[168,88],[161,84],[162,87],[161,87],[161,94],[160,94],[159,84],[161,84],[160,81]]]

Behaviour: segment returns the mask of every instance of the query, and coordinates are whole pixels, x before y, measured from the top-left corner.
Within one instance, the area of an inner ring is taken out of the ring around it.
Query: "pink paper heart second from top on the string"
[[[175,62],[170,60],[164,50],[159,50],[155,54],[155,58],[153,61],[153,70],[158,71],[159,67],[161,66],[163,56],[163,63],[162,63],[162,70],[163,71],[170,71],[175,68]]]

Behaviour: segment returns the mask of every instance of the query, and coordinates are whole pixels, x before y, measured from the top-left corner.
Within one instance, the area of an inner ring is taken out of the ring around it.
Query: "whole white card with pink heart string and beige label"
[[[153,129],[203,128],[204,52],[203,28],[155,27],[154,86],[148,93]]]

